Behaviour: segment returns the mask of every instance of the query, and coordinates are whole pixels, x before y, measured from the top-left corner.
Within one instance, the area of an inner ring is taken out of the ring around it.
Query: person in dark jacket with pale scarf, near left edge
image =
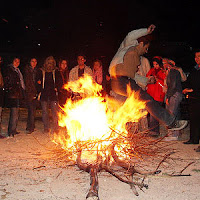
[[[19,115],[19,103],[23,98],[25,84],[23,76],[19,70],[20,59],[14,58],[12,64],[8,66],[5,72],[5,90],[8,107],[10,107],[10,118],[8,124],[8,136],[18,134],[16,128]]]

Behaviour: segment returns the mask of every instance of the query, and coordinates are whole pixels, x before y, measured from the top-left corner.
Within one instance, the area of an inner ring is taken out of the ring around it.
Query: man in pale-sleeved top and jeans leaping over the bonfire
[[[127,97],[127,85],[129,84],[132,91],[139,91],[140,100],[146,101],[146,109],[152,116],[170,130],[181,130],[187,126],[187,121],[176,120],[175,116],[161,107],[134,80],[140,65],[140,56],[148,52],[152,40],[151,33],[155,28],[156,26],[152,24],[148,28],[133,30],[122,41],[109,67],[111,87],[118,95]]]

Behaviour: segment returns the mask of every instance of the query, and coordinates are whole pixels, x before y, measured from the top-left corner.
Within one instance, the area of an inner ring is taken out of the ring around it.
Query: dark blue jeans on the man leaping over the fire
[[[146,101],[146,109],[154,118],[159,122],[164,123],[166,126],[169,126],[174,122],[175,117],[160,106],[146,91],[143,91],[133,79],[126,76],[119,76],[117,78],[112,78],[111,82],[112,90],[122,96],[127,96],[128,84],[130,84],[132,91],[140,92],[139,99]]]

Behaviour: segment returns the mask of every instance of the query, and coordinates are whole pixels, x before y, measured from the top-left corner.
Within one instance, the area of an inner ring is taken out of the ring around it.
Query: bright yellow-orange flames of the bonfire
[[[72,159],[76,159],[80,150],[82,158],[87,160],[97,159],[97,154],[103,157],[114,141],[118,141],[118,146],[123,148],[125,141],[119,138],[126,137],[127,122],[137,122],[147,114],[144,111],[145,102],[138,100],[138,94],[129,91],[129,98],[120,105],[117,101],[104,99],[100,95],[102,87],[94,83],[90,76],[69,82],[65,89],[69,88],[79,93],[81,98],[66,102],[59,116],[59,125],[67,131],[55,134],[53,141],[71,152]],[[120,149],[115,151],[125,156]]]

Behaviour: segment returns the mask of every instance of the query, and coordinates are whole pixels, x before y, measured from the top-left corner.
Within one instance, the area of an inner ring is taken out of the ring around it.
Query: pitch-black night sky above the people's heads
[[[0,17],[4,57],[64,56],[73,65],[83,53],[108,65],[128,32],[150,24],[156,30],[149,58],[159,54],[186,67],[193,64],[191,50],[200,47],[199,12],[193,1],[3,1]]]

